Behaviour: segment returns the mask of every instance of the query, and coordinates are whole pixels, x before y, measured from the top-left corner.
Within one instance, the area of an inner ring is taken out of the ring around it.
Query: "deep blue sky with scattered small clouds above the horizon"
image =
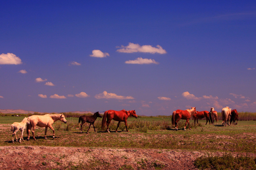
[[[255,1],[4,1],[0,109],[256,112]]]

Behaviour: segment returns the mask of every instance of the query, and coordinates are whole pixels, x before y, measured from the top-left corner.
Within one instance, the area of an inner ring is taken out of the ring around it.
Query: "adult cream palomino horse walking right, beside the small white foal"
[[[36,129],[36,125],[39,127],[45,127],[45,133],[44,133],[44,139],[46,139],[46,132],[47,132],[47,128],[49,127],[50,129],[52,129],[53,131],[53,136],[52,138],[54,139],[54,129],[52,128],[52,124],[56,121],[60,120],[61,122],[67,123],[66,119],[65,119],[65,115],[63,114],[46,114],[46,115],[32,115],[28,117],[28,122],[27,122],[27,134],[28,134],[28,139],[29,140],[29,135],[30,135],[30,130],[32,129],[32,134],[33,134],[33,138],[34,140],[36,140],[35,138],[35,129]]]

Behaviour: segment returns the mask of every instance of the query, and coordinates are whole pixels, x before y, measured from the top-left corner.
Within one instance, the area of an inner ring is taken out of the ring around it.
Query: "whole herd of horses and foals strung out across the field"
[[[223,119],[222,125],[224,125],[224,123],[226,126],[227,126],[227,124],[230,125],[232,121],[233,121],[233,124],[235,124],[235,125],[237,124],[238,113],[237,113],[236,109],[231,111],[231,108],[224,107],[221,111],[221,114],[222,114],[222,119]],[[126,131],[129,132],[127,129],[127,118],[131,117],[131,116],[138,118],[135,110],[129,110],[129,111],[127,111],[127,110],[120,110],[120,111],[107,110],[104,112],[102,122],[101,122],[101,128],[103,129],[107,125],[106,132],[109,133],[108,126],[109,126],[111,120],[114,120],[114,121],[118,121],[118,124],[116,127],[116,132],[120,125],[120,122],[124,122]],[[189,125],[189,119],[191,118],[191,116],[194,118],[195,123],[196,123],[196,121],[198,123],[198,119],[202,119],[204,117],[206,118],[206,124],[208,121],[210,124],[214,124],[214,120],[216,120],[216,124],[217,124],[217,121],[218,121],[217,112],[214,111],[214,107],[211,108],[210,112],[208,112],[208,111],[198,112],[198,111],[196,111],[196,107],[191,107],[191,109],[187,109],[187,110],[175,110],[172,113],[172,125],[175,127],[176,130],[178,130],[178,125],[177,125],[178,122],[180,121],[180,119],[184,119],[184,120],[186,120],[184,130],[186,130],[187,123],[188,123],[189,129],[191,130],[190,125]],[[86,115],[80,116],[79,120],[78,120],[78,123],[81,122],[81,124],[80,124],[81,132],[80,133],[82,133],[82,127],[85,122],[90,123],[87,133],[89,132],[91,125],[93,126],[93,129],[96,132],[95,127],[94,127],[94,122],[97,119],[97,117],[100,117],[100,118],[102,117],[99,112],[94,113],[92,116],[86,116]],[[29,140],[29,138],[30,138],[30,131],[32,131],[34,140],[36,140],[36,138],[35,138],[36,126],[45,127],[44,139],[46,139],[46,132],[47,132],[48,127],[50,129],[52,129],[52,131],[53,131],[52,137],[54,139],[55,134],[54,134],[54,129],[52,127],[52,124],[58,120],[61,122],[67,123],[67,120],[65,119],[65,115],[63,115],[63,114],[32,115],[29,117],[25,117],[22,120],[22,122],[14,122],[11,125],[12,143],[14,143],[14,140],[13,140],[14,136],[16,137],[16,142],[18,142],[16,133],[19,130],[21,131],[21,137],[20,137],[19,142],[21,142],[21,139],[23,140],[23,132],[26,128],[26,124],[27,124],[27,134],[28,134],[27,140]],[[230,123],[229,123],[229,120],[230,120]],[[235,121],[236,121],[236,123],[235,123]]]

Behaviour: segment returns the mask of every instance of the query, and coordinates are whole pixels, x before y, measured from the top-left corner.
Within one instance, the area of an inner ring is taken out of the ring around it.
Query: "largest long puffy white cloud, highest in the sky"
[[[134,44],[129,42],[128,46],[121,46],[121,49],[116,50],[117,52],[120,53],[136,53],[136,52],[141,52],[141,53],[159,53],[159,54],[165,54],[166,51],[160,46],[157,45],[156,47],[152,47],[151,45],[143,45],[140,46],[139,44]]]

